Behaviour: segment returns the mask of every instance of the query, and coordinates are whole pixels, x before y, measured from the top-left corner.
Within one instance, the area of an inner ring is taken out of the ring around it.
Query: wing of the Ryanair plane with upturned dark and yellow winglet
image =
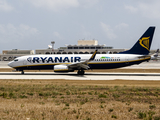
[[[78,62],[78,63],[69,64],[68,68],[88,70],[89,69],[88,62],[90,62],[90,61],[95,59],[96,53],[97,53],[97,50],[95,50],[95,52],[93,53],[93,55],[90,57],[89,60],[81,61],[81,62]]]

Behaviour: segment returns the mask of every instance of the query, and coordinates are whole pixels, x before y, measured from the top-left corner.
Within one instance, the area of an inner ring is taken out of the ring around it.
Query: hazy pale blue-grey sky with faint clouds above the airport
[[[160,48],[160,0],[0,0],[0,16],[0,53],[79,39],[130,48],[149,26],[151,49]]]

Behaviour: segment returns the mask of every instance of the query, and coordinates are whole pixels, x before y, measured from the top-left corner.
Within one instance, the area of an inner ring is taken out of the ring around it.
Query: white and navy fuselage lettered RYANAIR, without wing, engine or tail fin
[[[88,60],[92,54],[65,54],[65,55],[30,55],[16,58],[8,65],[17,70],[25,69],[54,69],[54,65],[70,65]],[[88,63],[91,69],[111,69],[139,64],[150,57],[135,54],[97,54],[93,61]]]

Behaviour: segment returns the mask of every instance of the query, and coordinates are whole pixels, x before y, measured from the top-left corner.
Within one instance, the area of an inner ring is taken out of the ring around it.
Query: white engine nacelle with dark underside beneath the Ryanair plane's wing
[[[73,72],[74,70],[69,69],[66,65],[55,65],[54,72]]]

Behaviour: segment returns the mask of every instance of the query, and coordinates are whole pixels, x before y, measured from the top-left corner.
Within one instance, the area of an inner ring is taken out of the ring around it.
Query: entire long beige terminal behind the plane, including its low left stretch
[[[47,48],[38,50],[3,50],[0,60],[11,61],[17,57],[33,54],[93,54],[98,49],[97,54],[116,54],[126,49],[113,49],[111,46],[99,45],[97,40],[78,40],[77,45],[67,45],[58,49]],[[154,53],[156,50],[151,50]]]

